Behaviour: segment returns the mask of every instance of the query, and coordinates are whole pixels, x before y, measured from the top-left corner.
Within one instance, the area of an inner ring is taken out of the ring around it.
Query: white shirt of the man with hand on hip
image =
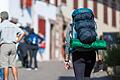
[[[14,23],[4,20],[2,23],[0,23],[0,44],[13,43],[16,41],[17,33],[23,34],[24,32]]]

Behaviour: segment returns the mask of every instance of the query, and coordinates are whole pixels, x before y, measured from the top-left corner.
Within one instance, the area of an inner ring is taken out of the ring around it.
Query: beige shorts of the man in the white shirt
[[[2,44],[0,47],[0,67],[12,67],[16,63],[16,44]]]

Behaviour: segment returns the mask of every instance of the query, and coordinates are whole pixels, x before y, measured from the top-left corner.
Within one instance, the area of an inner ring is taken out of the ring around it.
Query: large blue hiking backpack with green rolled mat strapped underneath
[[[106,41],[97,38],[96,23],[92,10],[88,8],[76,9],[72,13],[72,18],[73,23],[69,31],[70,38],[67,40],[70,41],[69,51],[106,49]]]

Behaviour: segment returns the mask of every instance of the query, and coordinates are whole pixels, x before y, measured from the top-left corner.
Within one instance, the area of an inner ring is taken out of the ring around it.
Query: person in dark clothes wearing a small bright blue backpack
[[[29,51],[29,56],[30,56],[30,60],[29,60],[29,64],[28,64],[28,70],[37,70],[38,69],[38,63],[37,63],[37,52],[39,49],[39,43],[42,43],[44,39],[42,37],[40,37],[39,35],[37,35],[34,32],[34,29],[31,28],[30,30],[30,34],[28,35],[27,38],[27,44],[28,44],[28,51]],[[33,59],[34,59],[34,67],[32,67],[33,64]]]

